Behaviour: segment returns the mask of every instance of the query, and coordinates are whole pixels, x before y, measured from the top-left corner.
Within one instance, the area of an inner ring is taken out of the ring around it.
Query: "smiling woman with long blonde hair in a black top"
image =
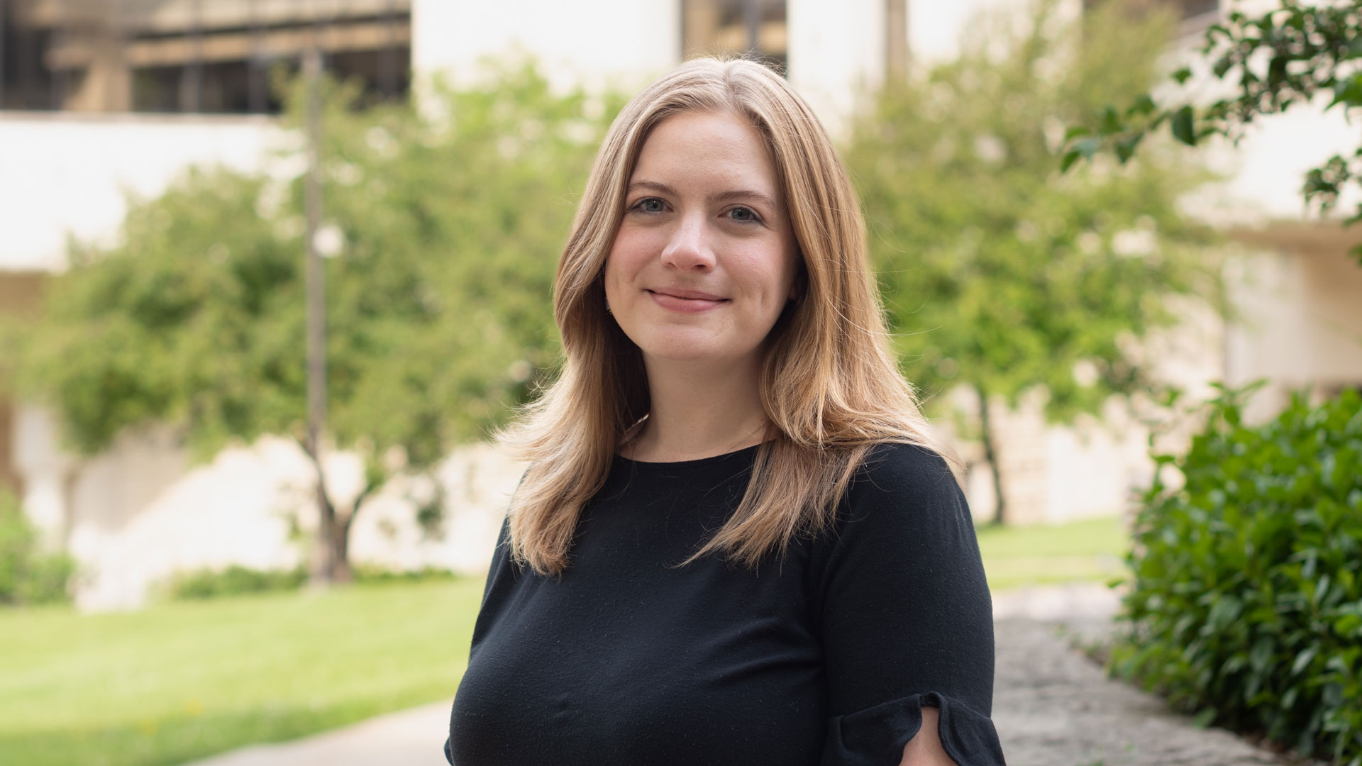
[[[695,60],[625,106],[554,316],[451,763],[1002,763],[970,514],[783,79]]]

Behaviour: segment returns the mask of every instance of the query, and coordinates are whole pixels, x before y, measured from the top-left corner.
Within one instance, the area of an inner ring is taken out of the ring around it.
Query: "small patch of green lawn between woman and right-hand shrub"
[[[1126,572],[1130,534],[1118,518],[1065,525],[983,526],[979,552],[989,587],[1105,582]]]

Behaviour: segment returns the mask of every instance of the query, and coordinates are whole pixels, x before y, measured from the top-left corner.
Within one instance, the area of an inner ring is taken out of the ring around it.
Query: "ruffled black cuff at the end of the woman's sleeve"
[[[993,721],[937,692],[914,694],[828,721],[823,766],[898,766],[922,728],[922,707],[941,713],[945,754],[959,766],[1005,766]]]

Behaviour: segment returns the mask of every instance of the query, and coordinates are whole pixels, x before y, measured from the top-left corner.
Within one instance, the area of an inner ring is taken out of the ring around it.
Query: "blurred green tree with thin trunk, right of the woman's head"
[[[978,394],[998,522],[986,402],[1039,388],[1068,423],[1148,390],[1136,341],[1177,319],[1166,298],[1218,294],[1197,248],[1207,233],[1177,206],[1201,172],[1155,151],[1058,170],[1065,124],[1148,89],[1171,19],[1032,11],[983,18],[959,60],[891,82],[846,151],[902,368],[929,398]]]

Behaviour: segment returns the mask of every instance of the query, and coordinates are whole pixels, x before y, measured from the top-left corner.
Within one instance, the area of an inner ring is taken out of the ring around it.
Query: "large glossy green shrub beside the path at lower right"
[[[1260,427],[1222,388],[1144,496],[1113,669],[1201,722],[1362,765],[1362,395]]]

